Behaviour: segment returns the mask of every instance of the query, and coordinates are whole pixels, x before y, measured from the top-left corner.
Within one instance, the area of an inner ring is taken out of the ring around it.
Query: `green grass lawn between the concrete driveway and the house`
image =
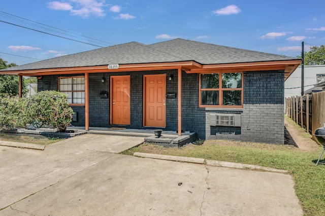
[[[325,215],[325,165],[315,166],[321,147],[307,152],[294,146],[206,140],[181,148],[143,144],[126,150],[122,154],[132,155],[134,152],[204,158],[285,169],[294,178],[296,194],[304,214]]]

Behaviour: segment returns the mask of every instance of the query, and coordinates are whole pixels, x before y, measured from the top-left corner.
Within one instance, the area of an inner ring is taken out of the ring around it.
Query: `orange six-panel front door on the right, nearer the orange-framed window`
[[[144,85],[144,126],[166,127],[166,75],[146,75]]]

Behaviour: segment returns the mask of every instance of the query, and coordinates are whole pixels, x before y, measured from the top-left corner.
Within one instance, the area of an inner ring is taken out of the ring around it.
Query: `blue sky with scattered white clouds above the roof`
[[[21,65],[175,38],[296,57],[302,41],[305,51],[325,45],[324,8],[323,0],[2,0],[0,57]]]

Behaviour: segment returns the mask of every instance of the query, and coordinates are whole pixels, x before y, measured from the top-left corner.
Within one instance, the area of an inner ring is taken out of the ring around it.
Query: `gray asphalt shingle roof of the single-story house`
[[[151,45],[130,42],[71,55],[60,56],[34,63],[9,67],[3,70],[29,70],[107,64],[134,64],[196,61],[201,64],[243,63],[256,61],[293,60],[294,57],[243,50],[202,42],[175,39]]]

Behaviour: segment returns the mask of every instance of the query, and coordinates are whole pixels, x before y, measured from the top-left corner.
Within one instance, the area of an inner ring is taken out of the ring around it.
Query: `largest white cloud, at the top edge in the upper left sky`
[[[81,17],[103,17],[106,14],[104,13],[104,3],[99,0],[68,0],[68,3],[63,2],[49,2],[48,8],[53,10],[63,10],[70,11],[72,15],[81,16]]]

